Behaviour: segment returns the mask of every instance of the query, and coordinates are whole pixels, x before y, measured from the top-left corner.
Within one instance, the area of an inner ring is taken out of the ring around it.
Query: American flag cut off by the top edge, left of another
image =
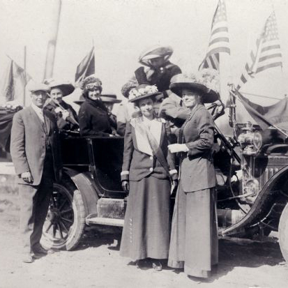
[[[219,0],[211,25],[211,36],[208,52],[199,66],[219,70],[219,53],[230,54],[226,6],[224,0]]]

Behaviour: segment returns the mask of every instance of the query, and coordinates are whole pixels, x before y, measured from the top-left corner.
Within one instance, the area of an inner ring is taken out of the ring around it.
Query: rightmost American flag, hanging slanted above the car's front
[[[237,89],[240,89],[249,78],[254,78],[255,74],[277,66],[282,67],[282,54],[276,16],[273,11],[256,41],[255,51],[250,52],[250,60],[245,64],[245,70],[240,77]]]

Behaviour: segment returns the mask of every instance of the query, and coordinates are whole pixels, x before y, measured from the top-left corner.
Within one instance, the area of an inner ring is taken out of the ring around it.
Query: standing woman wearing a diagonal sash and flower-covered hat
[[[156,86],[139,85],[132,90],[142,114],[127,123],[124,138],[121,181],[129,192],[120,255],[132,261],[153,259],[153,268],[162,269],[160,259],[169,251],[169,205],[171,182],[176,185],[177,172],[169,153],[169,128],[153,110],[160,94]]]

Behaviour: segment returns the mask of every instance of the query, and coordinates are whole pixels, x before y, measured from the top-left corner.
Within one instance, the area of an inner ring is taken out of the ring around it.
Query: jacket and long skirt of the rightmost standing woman
[[[218,263],[213,121],[203,105],[193,109],[179,132],[188,146],[181,155],[179,187],[172,219],[168,266],[208,278]]]

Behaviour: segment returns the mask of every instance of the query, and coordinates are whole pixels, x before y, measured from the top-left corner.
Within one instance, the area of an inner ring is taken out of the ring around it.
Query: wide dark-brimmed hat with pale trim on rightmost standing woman
[[[172,77],[169,89],[182,96],[182,89],[197,91],[202,96],[203,103],[213,103],[220,99],[219,75],[212,69],[203,69],[197,75],[178,74]]]

